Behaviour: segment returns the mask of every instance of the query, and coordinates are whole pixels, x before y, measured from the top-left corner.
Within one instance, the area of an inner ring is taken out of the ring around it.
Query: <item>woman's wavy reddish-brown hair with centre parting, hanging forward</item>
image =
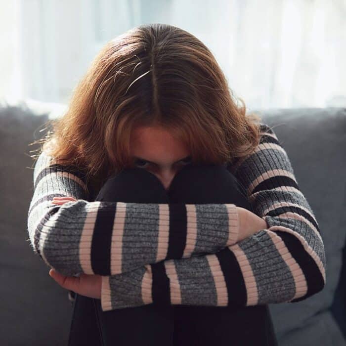
[[[259,122],[259,115],[246,115],[244,101],[228,87],[204,43],[155,23],[106,43],[65,114],[49,120],[52,129],[34,143],[55,162],[86,173],[97,191],[108,177],[131,167],[135,126],[170,130],[188,145],[194,164],[232,164],[259,144]]]

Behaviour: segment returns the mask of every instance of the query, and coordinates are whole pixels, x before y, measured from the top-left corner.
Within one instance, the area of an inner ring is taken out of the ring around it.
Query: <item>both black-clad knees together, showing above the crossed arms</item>
[[[219,165],[184,166],[175,174],[168,191],[149,171],[140,168],[123,170],[106,181],[95,201],[234,203],[252,211],[244,187],[232,173]]]

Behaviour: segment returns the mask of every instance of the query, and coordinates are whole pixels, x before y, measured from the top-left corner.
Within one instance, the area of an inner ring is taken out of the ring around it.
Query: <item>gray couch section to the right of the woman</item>
[[[319,346],[346,345],[334,317],[327,313],[340,279],[346,239],[346,109],[254,112],[273,127],[286,150],[298,185],[316,216],[326,251],[326,286],[321,292],[298,303],[269,305],[277,339],[280,345],[317,345],[313,335]]]

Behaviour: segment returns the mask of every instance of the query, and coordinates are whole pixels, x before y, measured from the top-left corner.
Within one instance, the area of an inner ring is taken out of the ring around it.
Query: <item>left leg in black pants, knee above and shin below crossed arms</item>
[[[152,173],[131,168],[109,178],[95,201],[168,203],[161,181]],[[173,307],[146,304],[103,312],[95,300],[104,345],[173,345]]]

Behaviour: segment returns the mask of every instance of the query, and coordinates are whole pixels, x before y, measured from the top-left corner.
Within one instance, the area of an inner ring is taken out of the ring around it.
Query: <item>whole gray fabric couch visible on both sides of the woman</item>
[[[280,346],[346,345],[346,109],[257,110],[274,126],[325,244],[327,284],[299,303],[271,304]],[[33,194],[28,143],[41,138],[49,112],[25,103],[0,107],[0,345],[67,345],[68,292],[29,246],[26,218]]]

